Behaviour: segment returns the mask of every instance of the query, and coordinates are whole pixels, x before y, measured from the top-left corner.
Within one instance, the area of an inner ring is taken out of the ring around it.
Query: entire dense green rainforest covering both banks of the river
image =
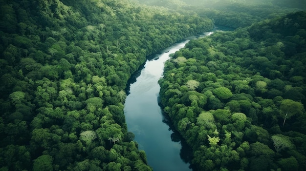
[[[0,0],[0,171],[152,171],[128,80],[215,25],[236,30],[191,40],[159,80],[193,170],[305,170],[305,4],[198,1]]]

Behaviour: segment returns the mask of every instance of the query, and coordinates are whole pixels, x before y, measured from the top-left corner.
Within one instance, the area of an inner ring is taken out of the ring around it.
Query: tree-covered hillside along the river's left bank
[[[1,0],[0,170],[151,171],[127,132],[127,81],[212,27],[131,0]]]

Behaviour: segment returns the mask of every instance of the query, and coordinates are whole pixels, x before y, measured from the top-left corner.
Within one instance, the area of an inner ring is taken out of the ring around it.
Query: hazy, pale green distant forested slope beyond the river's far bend
[[[138,0],[144,4],[166,7],[181,13],[197,13],[216,25],[247,27],[263,19],[306,10],[303,0]],[[305,1],[305,0],[304,0]]]

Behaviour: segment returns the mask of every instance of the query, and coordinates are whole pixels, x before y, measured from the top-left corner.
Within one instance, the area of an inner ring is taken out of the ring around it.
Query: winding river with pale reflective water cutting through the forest
[[[154,171],[191,171],[188,163],[188,147],[183,146],[179,135],[163,116],[158,105],[160,86],[157,81],[163,75],[164,62],[169,55],[183,48],[193,38],[208,36],[217,30],[228,30],[216,27],[197,37],[190,37],[164,49],[161,54],[152,56],[143,68],[138,70],[128,85],[124,113],[128,131],[135,134],[139,150],[144,150],[148,164]],[[168,125],[168,124],[170,125]]]

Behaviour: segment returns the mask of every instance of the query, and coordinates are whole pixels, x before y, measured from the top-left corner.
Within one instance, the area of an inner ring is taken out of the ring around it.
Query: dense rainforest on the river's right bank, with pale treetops
[[[191,40],[165,63],[161,105],[197,171],[304,171],[306,12]]]

